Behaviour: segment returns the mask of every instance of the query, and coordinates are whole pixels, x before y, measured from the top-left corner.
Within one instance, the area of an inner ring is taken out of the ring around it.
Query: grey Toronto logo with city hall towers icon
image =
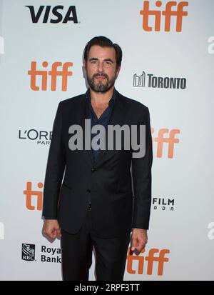
[[[163,89],[185,89],[185,78],[161,77],[154,74],[133,75],[133,87],[163,88]]]

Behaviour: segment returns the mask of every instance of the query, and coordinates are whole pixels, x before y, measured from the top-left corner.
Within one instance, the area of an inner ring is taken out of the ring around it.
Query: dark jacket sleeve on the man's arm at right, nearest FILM
[[[151,166],[153,161],[150,114],[144,112],[141,123],[146,125],[146,153],[141,158],[132,159],[133,175],[133,228],[148,229],[151,211]],[[139,133],[138,129],[138,133]],[[139,136],[139,134],[138,134]]]

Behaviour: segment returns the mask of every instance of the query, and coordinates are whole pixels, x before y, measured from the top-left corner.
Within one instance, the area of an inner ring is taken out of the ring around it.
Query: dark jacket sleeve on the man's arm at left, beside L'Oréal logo
[[[46,219],[57,219],[58,195],[66,165],[65,146],[62,138],[61,113],[61,103],[59,103],[54,120],[44,181],[43,216]]]

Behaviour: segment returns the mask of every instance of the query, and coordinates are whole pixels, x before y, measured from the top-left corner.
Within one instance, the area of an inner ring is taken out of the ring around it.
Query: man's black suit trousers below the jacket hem
[[[95,250],[97,281],[123,281],[130,232],[113,239],[93,235],[91,210],[77,234],[61,230],[62,272],[65,281],[88,281]]]

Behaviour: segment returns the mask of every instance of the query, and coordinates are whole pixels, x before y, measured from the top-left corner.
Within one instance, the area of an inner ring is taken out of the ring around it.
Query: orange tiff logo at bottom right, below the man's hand
[[[128,249],[127,255],[127,271],[128,274],[136,274],[136,270],[133,269],[133,261],[138,261],[138,270],[137,274],[143,274],[144,263],[147,262],[147,274],[153,274],[153,262],[158,263],[158,276],[163,276],[163,265],[165,262],[168,262],[168,258],[165,257],[165,254],[170,253],[168,249],[150,249],[148,251],[148,256],[143,256],[141,254],[145,253],[145,249],[141,251],[139,255],[133,255],[133,251],[131,251],[131,247]],[[155,255],[156,254],[156,255]]]

